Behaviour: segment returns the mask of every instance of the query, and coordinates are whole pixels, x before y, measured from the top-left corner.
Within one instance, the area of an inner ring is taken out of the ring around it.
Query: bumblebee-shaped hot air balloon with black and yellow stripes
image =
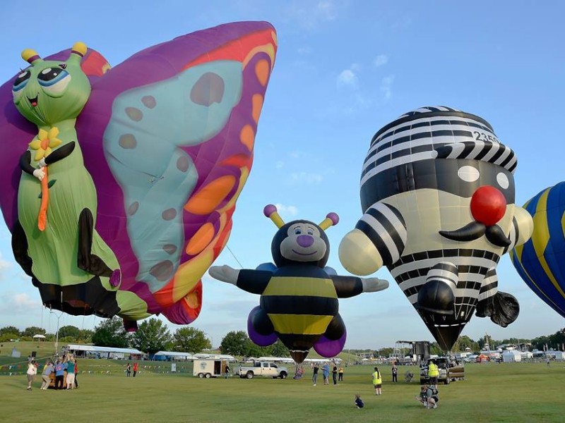
[[[330,255],[324,231],[338,223],[337,214],[328,214],[316,225],[306,220],[285,223],[272,204],[263,212],[279,228],[270,246],[276,268],[212,266],[210,276],[261,295],[260,305],[251,310],[247,325],[254,343],[271,345],[278,337],[297,363],[304,361],[312,347],[323,357],[338,355],[346,338],[338,298],[383,290],[388,282],[331,275],[324,269]]]

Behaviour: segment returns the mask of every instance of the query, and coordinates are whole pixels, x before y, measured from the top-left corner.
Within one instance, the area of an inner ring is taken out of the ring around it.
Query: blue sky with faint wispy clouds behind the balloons
[[[239,197],[234,228],[216,264],[252,269],[270,262],[275,226],[263,216],[280,204],[285,220],[322,221],[340,274],[338,245],[362,214],[359,176],[376,130],[420,106],[437,104],[487,119],[518,156],[516,202],[564,179],[561,100],[565,94],[562,41],[565,4],[546,1],[3,1],[0,6],[0,83],[25,62],[83,41],[112,66],[153,44],[238,20],[267,20],[278,32],[278,56],[255,144],[254,167]],[[4,140],[9,142],[9,140]],[[231,252],[233,253],[231,253]],[[237,257],[237,260],[236,258]],[[499,288],[521,304],[506,329],[473,317],[473,339],[533,338],[554,333],[564,319],[521,281],[506,255]],[[376,273],[392,281],[388,270]],[[203,279],[201,316],[194,326],[218,345],[227,331],[244,330],[258,296]],[[382,348],[396,340],[432,336],[396,283],[381,293],[341,300],[345,348]],[[0,223],[0,327],[57,329],[59,312],[42,309],[40,295],[13,259],[10,233]],[[60,325],[92,329],[97,317],[64,314]],[[179,326],[169,325],[172,330]]]

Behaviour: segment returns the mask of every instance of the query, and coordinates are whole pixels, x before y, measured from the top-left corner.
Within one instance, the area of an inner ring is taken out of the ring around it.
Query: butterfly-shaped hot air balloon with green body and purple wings
[[[251,170],[276,35],[229,23],[110,68],[76,43],[0,87],[0,205],[44,305],[187,324]]]

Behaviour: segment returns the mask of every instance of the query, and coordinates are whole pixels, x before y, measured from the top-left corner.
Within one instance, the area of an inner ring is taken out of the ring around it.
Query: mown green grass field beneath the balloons
[[[4,354],[4,349],[2,350]],[[26,355],[27,357],[27,355]],[[8,357],[0,357],[6,364]],[[468,364],[465,381],[439,386],[436,410],[415,400],[417,378],[400,367],[392,384],[390,367],[382,366],[383,395],[371,386],[372,366],[345,369],[338,386],[312,386],[311,371],[303,379],[198,379],[190,373],[153,373],[141,362],[134,379],[124,376],[119,360],[81,360],[80,388],[26,391],[25,374],[0,376],[1,422],[564,422],[565,363]],[[177,364],[181,365],[181,364]],[[190,364],[184,364],[189,371]],[[90,372],[90,373],[89,373]],[[365,407],[353,405],[361,394]]]

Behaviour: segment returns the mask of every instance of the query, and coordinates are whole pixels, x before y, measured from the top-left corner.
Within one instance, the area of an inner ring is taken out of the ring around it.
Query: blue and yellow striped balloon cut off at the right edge
[[[524,208],[534,232],[511,251],[512,264],[538,297],[565,317],[565,182],[543,190]]]

